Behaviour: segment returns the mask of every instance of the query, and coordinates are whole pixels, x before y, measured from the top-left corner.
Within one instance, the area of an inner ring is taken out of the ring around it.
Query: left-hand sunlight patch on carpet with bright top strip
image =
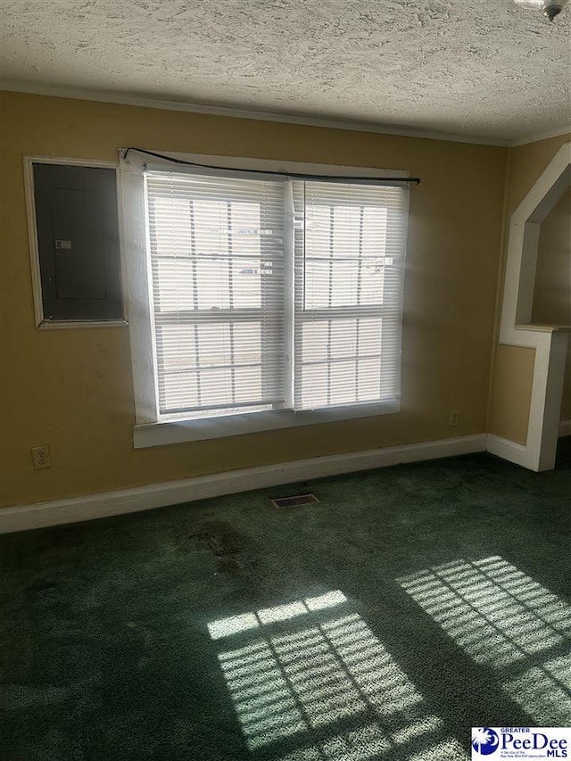
[[[287,739],[297,748],[276,761],[366,761],[395,749],[467,759],[363,619],[335,614],[347,601],[337,590],[244,614],[259,625],[236,631],[247,643],[218,658],[249,749]],[[209,624],[212,639],[231,636],[224,622],[240,617]]]

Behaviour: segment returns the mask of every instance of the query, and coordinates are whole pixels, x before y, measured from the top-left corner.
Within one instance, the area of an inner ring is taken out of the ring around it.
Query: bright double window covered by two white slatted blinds
[[[137,422],[203,438],[398,409],[408,189],[380,182],[147,168]]]

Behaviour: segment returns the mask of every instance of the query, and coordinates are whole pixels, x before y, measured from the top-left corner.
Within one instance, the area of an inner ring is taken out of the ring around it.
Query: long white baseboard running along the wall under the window
[[[264,489],[324,476],[338,476],[376,467],[471,454],[485,451],[485,448],[486,435],[474,434],[378,450],[298,459],[279,465],[247,467],[211,476],[137,486],[116,492],[73,497],[69,500],[16,505],[0,509],[0,534],[163,508],[181,502],[219,497],[222,494],[248,492],[252,489]]]

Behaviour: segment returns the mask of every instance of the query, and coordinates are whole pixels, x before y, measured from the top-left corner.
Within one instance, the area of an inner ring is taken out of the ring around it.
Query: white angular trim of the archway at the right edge
[[[571,326],[532,325],[535,269],[542,220],[571,185],[571,142],[562,145],[511,216],[500,343],[535,350],[525,445],[488,436],[488,451],[531,470],[555,465],[563,377]]]

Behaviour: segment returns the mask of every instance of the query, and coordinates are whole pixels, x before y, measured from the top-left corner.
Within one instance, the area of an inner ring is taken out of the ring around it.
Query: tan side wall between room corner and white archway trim
[[[570,134],[561,135],[512,149],[509,155],[509,173],[506,183],[504,230],[509,228],[511,215],[534,186],[542,171],[559,151],[561,145],[569,139],[571,139]],[[507,244],[506,236],[500,269],[500,285],[503,284],[505,273]],[[501,287],[498,292],[496,310],[496,329],[498,329]],[[533,375],[535,352],[518,347],[509,347],[513,351],[505,352],[506,348],[502,348],[501,344],[497,345],[492,361],[488,431],[510,441],[525,443],[532,393],[528,378]],[[518,373],[521,382],[518,380]]]

